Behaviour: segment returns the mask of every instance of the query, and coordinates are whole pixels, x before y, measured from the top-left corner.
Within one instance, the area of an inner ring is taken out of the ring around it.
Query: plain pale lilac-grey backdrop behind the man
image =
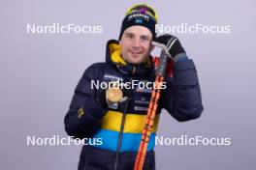
[[[128,1],[0,2],[0,169],[76,169],[80,146],[27,147],[26,135],[66,136],[63,118],[82,71],[104,61]],[[160,23],[230,25],[231,34],[176,34],[194,59],[205,111],[158,135],[230,137],[230,146],[157,146],[159,170],[255,169],[255,1],[148,1]],[[102,25],[103,34],[26,34],[26,24]]]

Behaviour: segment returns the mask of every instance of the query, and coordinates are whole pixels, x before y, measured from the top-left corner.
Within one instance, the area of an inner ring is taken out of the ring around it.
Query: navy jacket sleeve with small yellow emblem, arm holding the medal
[[[84,71],[64,119],[67,133],[76,138],[91,137],[107,112],[98,99],[99,90],[91,88],[91,80],[96,81],[97,74],[99,69],[94,65]]]

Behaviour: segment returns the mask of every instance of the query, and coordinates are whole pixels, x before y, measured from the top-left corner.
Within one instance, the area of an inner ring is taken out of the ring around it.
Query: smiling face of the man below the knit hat
[[[122,57],[128,63],[141,64],[152,50],[152,33],[144,26],[127,28],[119,41]]]

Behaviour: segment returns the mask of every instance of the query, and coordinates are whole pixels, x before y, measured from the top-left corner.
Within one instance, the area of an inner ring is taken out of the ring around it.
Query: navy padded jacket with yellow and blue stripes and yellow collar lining
[[[198,118],[203,111],[200,86],[193,61],[186,59],[176,62],[173,71],[174,76],[166,78],[167,88],[163,90],[159,101],[156,120],[148,143],[148,153],[152,153],[155,145],[161,109],[166,109],[177,121]],[[112,40],[107,43],[106,62],[93,64],[84,71],[65,116],[65,129],[71,136],[101,138],[102,143],[83,147],[80,167],[108,169],[107,166],[110,166],[109,169],[112,169],[124,104],[118,103],[106,107],[100,99],[103,90],[92,88],[91,81],[98,80],[101,83],[118,79],[122,82],[131,82],[131,80],[154,82],[155,74],[151,57],[142,65],[127,64],[121,57],[118,42]],[[141,142],[151,90],[135,87],[128,94],[131,101],[127,110],[120,149],[120,156],[125,156],[126,160],[120,159],[120,162],[124,162],[120,165],[123,167],[121,169],[133,167]],[[91,158],[88,158],[89,155]],[[153,156],[148,157],[151,157],[148,166],[153,167]],[[88,159],[89,162],[87,162]]]

